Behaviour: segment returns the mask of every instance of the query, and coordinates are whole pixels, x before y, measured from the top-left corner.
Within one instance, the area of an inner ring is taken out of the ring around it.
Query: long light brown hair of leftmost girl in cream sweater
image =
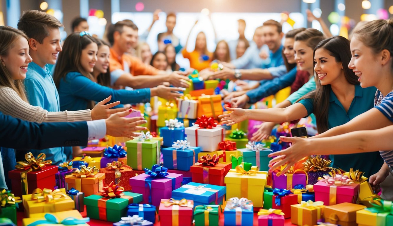
[[[9,50],[14,46],[14,43],[19,38],[26,38],[29,42],[29,38],[18,29],[9,26],[0,26],[0,57],[6,57],[9,54]],[[6,86],[13,89],[18,93],[19,97],[25,102],[28,102],[26,93],[23,85],[23,79],[14,79],[9,74],[6,66],[0,62],[0,86]]]

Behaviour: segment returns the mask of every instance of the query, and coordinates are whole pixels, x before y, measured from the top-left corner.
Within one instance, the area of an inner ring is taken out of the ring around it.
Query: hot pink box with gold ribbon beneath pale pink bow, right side
[[[322,201],[325,206],[340,204],[343,202],[356,203],[358,200],[359,184],[347,184],[334,186],[323,181],[314,184],[315,201]],[[336,195],[334,195],[336,193]],[[334,203],[334,197],[336,202]],[[331,200],[331,202],[329,202]]]

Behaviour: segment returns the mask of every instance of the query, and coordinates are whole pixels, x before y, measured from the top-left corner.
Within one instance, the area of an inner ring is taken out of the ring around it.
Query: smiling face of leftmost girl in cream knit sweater
[[[29,43],[26,38],[16,40],[6,56],[1,56],[2,64],[6,66],[8,73],[15,80],[26,78],[28,65],[32,61],[29,55]]]

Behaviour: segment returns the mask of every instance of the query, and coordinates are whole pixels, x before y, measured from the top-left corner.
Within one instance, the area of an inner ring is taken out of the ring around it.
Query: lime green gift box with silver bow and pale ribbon
[[[127,165],[143,170],[160,163],[160,142],[152,139],[150,132],[142,132],[137,139],[125,143],[127,147]]]

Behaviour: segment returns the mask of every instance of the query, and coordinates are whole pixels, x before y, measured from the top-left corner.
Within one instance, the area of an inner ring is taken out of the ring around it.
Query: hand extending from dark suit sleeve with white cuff
[[[132,109],[120,113],[111,115],[105,119],[107,125],[107,134],[113,137],[128,137],[134,139],[138,135],[134,132],[146,129],[143,126],[139,126],[147,121],[143,117],[125,118],[132,112]]]

